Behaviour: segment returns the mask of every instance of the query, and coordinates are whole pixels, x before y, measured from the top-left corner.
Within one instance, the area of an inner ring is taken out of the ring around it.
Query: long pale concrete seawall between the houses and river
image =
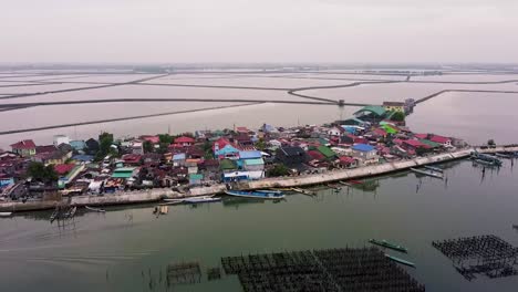
[[[278,177],[266,178],[261,180],[253,180],[247,182],[235,184],[234,188],[237,189],[267,189],[267,188],[284,188],[284,187],[300,187],[321,185],[325,182],[365,178],[372,176],[386,175],[405,170],[412,167],[418,167],[431,164],[446,163],[450,160],[462,159],[469,157],[474,150],[479,153],[497,153],[497,152],[518,152],[518,145],[499,146],[496,148],[480,148],[472,147],[452,153],[438,154],[429,157],[419,157],[410,160],[386,163],[382,165],[372,165],[353,169],[332,170],[317,175],[301,175],[296,177]],[[148,189],[141,191],[124,191],[117,194],[110,194],[105,196],[76,196],[72,198],[64,198],[61,201],[8,201],[0,204],[0,211],[19,212],[19,211],[34,211],[53,209],[60,204],[72,204],[77,207],[83,206],[114,206],[114,205],[132,205],[144,202],[156,202],[165,198],[182,198],[182,197],[196,197],[207,196],[215,194],[222,194],[226,190],[226,185],[219,184],[210,187],[191,188],[187,194],[173,191],[169,188]]]

